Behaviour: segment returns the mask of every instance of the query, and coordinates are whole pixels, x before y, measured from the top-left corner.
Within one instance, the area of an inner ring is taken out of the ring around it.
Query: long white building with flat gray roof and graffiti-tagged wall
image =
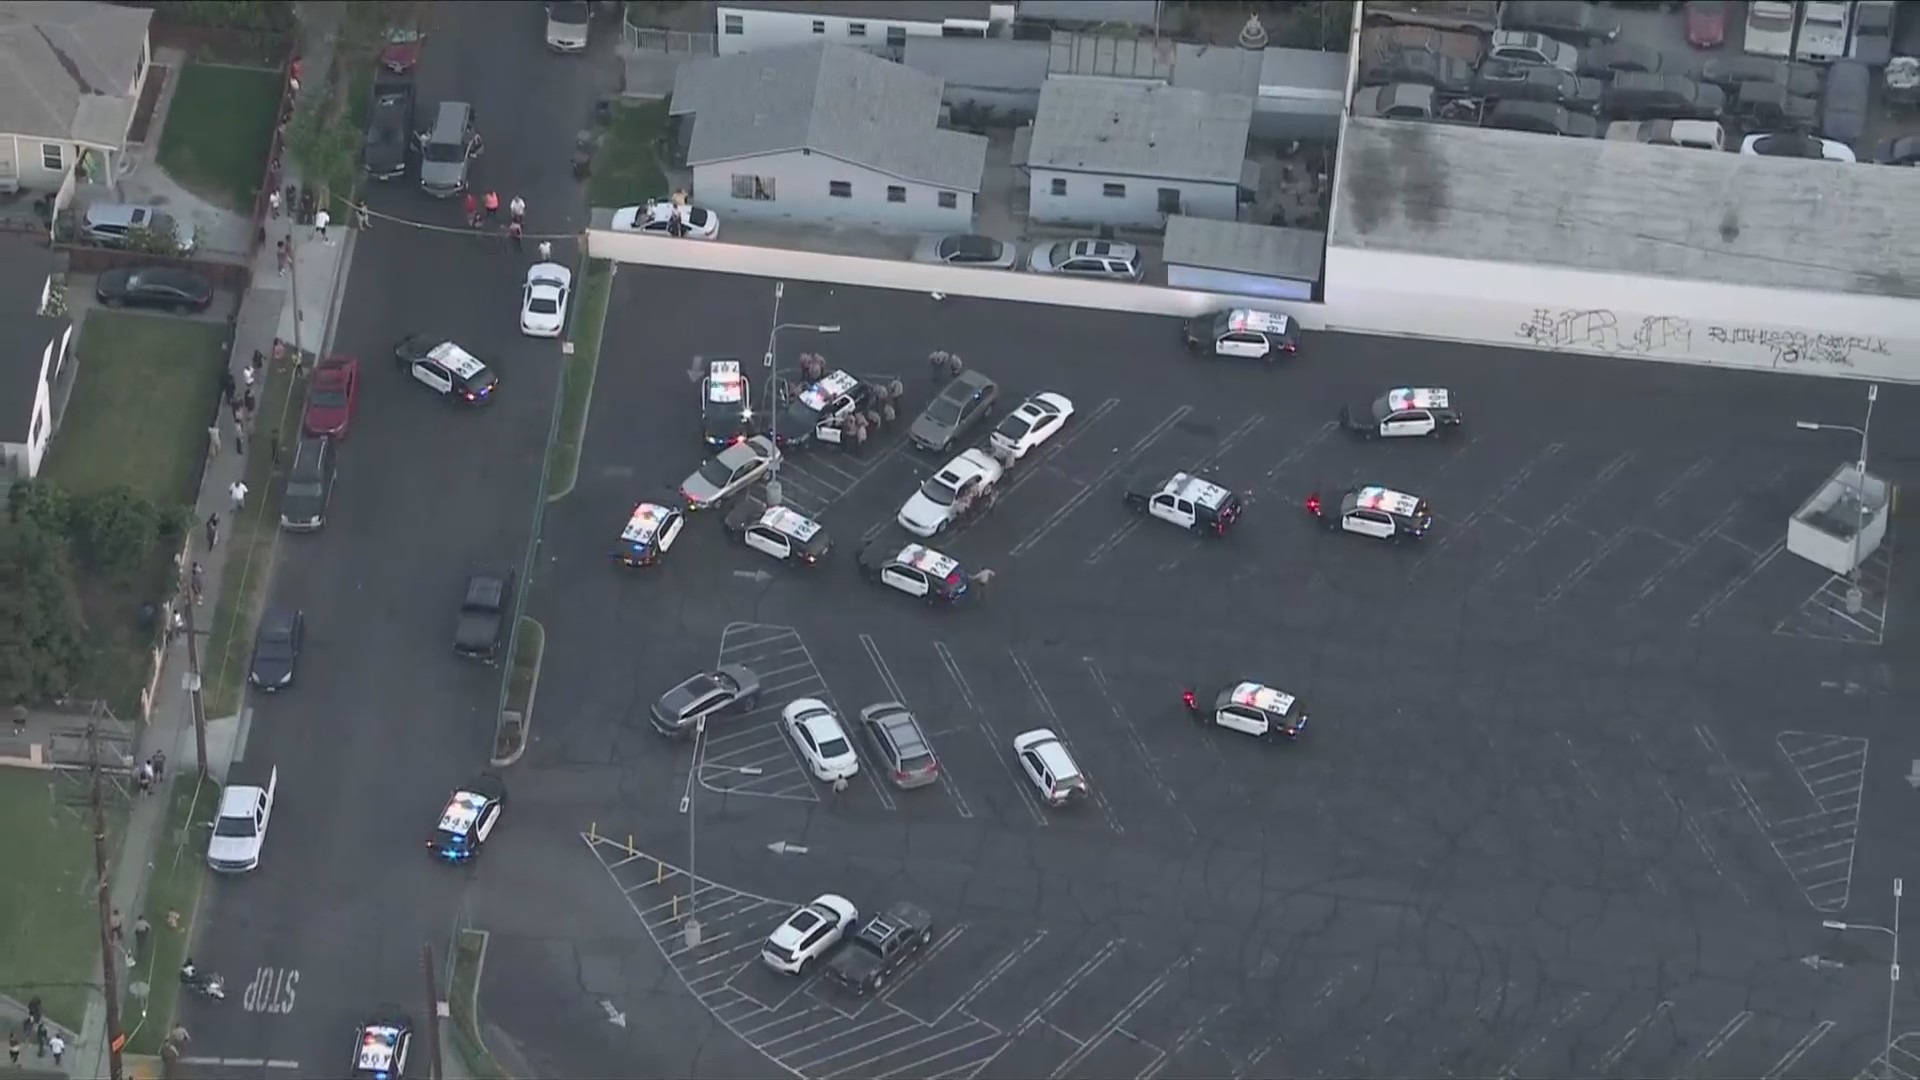
[[[1325,275],[1336,327],[1882,377],[1920,171],[1348,117]]]

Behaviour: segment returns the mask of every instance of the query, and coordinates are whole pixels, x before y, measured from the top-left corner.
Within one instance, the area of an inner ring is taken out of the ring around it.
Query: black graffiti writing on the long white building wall
[[[1853,367],[1862,356],[1887,356],[1885,338],[1809,334],[1778,327],[1728,327],[1678,315],[1617,315],[1605,307],[1536,307],[1513,334],[1532,348],[1617,356],[1697,356],[1755,367]]]

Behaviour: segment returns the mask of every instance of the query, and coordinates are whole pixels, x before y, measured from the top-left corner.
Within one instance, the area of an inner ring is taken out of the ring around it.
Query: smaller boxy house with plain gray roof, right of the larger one
[[[1162,229],[1167,217],[1233,221],[1250,183],[1254,98],[1148,81],[1048,79],[1014,140],[1041,225]]]

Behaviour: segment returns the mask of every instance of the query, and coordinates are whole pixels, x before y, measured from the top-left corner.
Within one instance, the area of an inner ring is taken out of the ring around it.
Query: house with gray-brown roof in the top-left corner
[[[0,190],[111,186],[146,86],[154,12],[90,0],[0,4]]]

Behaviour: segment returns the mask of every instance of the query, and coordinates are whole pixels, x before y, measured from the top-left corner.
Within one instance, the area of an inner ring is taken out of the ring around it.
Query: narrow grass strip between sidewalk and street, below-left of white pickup
[[[156,847],[142,911],[154,934],[148,938],[146,953],[134,957],[129,976],[129,982],[144,984],[146,995],[125,988],[121,1005],[121,1028],[129,1032],[127,1053],[142,1055],[159,1053],[159,1043],[173,1022],[173,1003],[180,990],[175,972],[186,963],[186,945],[194,938],[200,886],[207,880],[209,824],[219,803],[219,786],[213,782],[202,786],[198,776],[184,769],[165,794],[167,826]],[[165,978],[152,978],[152,972],[165,972]]]

